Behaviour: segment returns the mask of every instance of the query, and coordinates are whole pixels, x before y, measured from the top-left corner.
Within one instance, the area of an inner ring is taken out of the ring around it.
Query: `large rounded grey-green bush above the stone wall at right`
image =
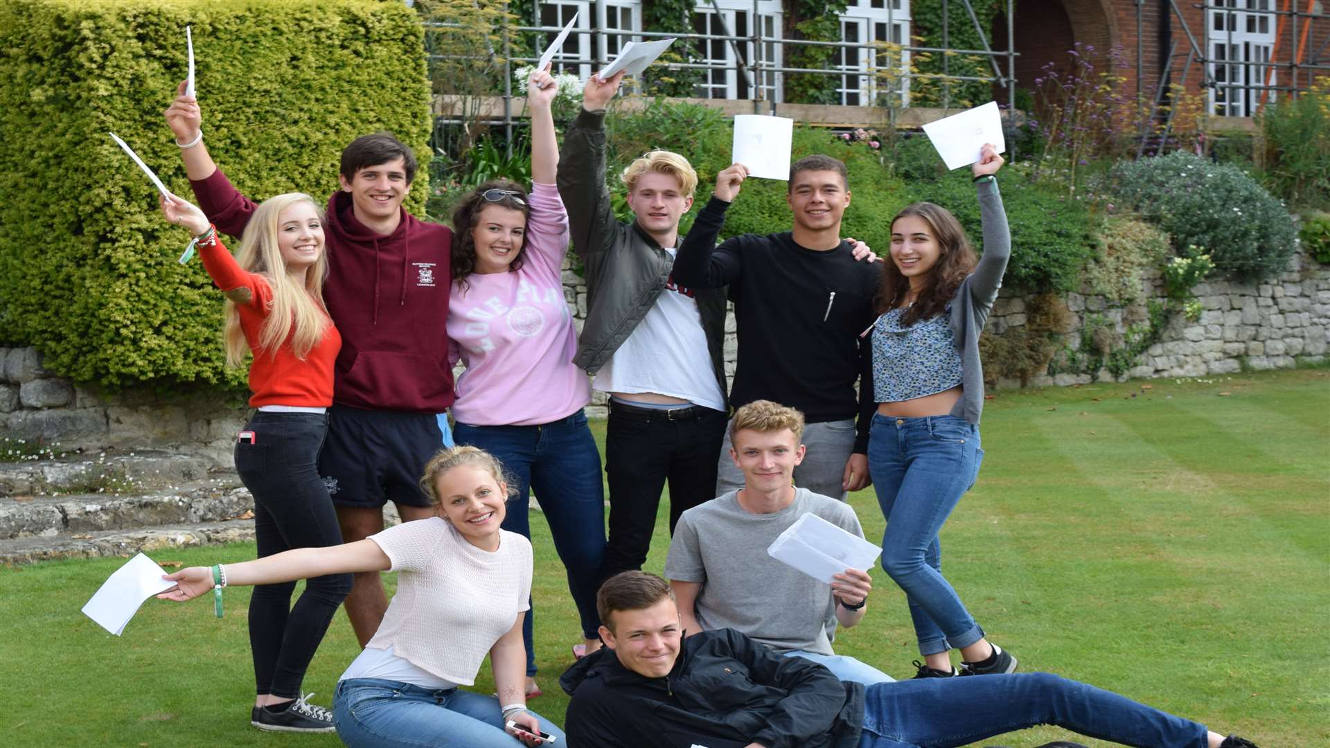
[[[1297,250],[1289,212],[1232,164],[1173,152],[1119,164],[1113,181],[1117,196],[1168,232],[1174,248],[1201,248],[1240,281],[1278,276]]]

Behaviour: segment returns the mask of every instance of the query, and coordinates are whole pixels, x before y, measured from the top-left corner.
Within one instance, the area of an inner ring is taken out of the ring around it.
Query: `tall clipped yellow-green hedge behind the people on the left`
[[[209,149],[255,198],[336,189],[343,146],[392,130],[428,160],[422,28],[400,1],[9,0],[0,7],[0,342],[106,386],[229,382],[221,294],[114,130],[190,196],[161,112],[193,25]],[[426,170],[408,198],[419,212]]]

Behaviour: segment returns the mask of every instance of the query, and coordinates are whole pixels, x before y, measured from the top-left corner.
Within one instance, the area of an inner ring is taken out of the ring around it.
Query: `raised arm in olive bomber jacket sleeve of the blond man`
[[[583,109],[564,130],[560,152],[559,196],[568,208],[573,252],[592,272],[593,258],[614,246],[614,210],[605,185],[605,105],[624,73],[609,80],[592,76],[583,91]],[[591,278],[588,278],[589,281]]]

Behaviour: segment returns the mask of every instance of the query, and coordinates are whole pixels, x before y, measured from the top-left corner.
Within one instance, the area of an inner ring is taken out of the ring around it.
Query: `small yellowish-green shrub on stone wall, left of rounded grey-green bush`
[[[1089,291],[1117,306],[1145,297],[1141,274],[1169,253],[1168,234],[1134,217],[1112,216],[1095,234],[1095,256],[1085,265]]]

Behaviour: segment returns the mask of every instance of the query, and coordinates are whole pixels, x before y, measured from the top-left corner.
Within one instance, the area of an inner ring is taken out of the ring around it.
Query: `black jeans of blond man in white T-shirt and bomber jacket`
[[[669,480],[669,531],[685,510],[716,498],[726,415],[709,407],[654,410],[610,401],[605,430],[609,542],[601,580],[642,568]]]

